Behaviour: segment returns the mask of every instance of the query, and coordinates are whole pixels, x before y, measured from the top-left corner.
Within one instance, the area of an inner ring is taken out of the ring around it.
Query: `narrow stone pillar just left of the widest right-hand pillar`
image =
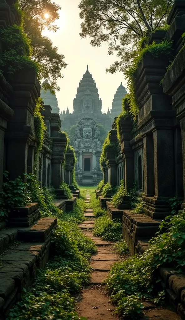
[[[153,197],[155,194],[154,185],[154,140],[153,135],[143,137],[143,176],[144,196]]]

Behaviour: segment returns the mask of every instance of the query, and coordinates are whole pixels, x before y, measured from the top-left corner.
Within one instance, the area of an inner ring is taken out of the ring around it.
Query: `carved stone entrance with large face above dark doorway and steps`
[[[74,143],[76,163],[76,180],[79,185],[97,185],[102,179],[100,170],[101,142],[96,121],[84,117],[76,127]]]

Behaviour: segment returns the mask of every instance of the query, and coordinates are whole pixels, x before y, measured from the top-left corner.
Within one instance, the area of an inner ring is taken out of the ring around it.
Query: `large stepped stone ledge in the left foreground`
[[[41,218],[32,227],[3,230],[4,235],[12,241],[27,243],[15,249],[10,248],[1,257],[0,319],[4,319],[13,303],[21,299],[23,288],[32,284],[37,269],[44,268],[50,255],[51,231],[56,228],[56,224],[56,218]]]

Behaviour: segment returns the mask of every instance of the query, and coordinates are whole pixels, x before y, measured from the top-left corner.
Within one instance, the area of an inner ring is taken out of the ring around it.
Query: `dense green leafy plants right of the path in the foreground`
[[[150,248],[140,257],[116,263],[106,280],[111,300],[117,304],[120,315],[137,318],[142,312],[143,300],[160,303],[165,292],[159,290],[159,267],[185,271],[185,211],[170,215],[161,222],[160,231]],[[162,286],[161,286],[162,288]]]

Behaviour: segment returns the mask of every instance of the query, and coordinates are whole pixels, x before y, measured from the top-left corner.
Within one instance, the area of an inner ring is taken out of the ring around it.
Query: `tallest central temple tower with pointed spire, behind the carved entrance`
[[[87,70],[77,88],[76,98],[73,101],[73,113],[69,113],[67,109],[66,114],[64,112],[60,114],[62,130],[68,131],[72,125],[77,124],[84,116],[92,117],[97,123],[102,124],[107,131],[110,130],[112,124],[110,112],[103,114],[101,105],[96,83],[87,66]]]

